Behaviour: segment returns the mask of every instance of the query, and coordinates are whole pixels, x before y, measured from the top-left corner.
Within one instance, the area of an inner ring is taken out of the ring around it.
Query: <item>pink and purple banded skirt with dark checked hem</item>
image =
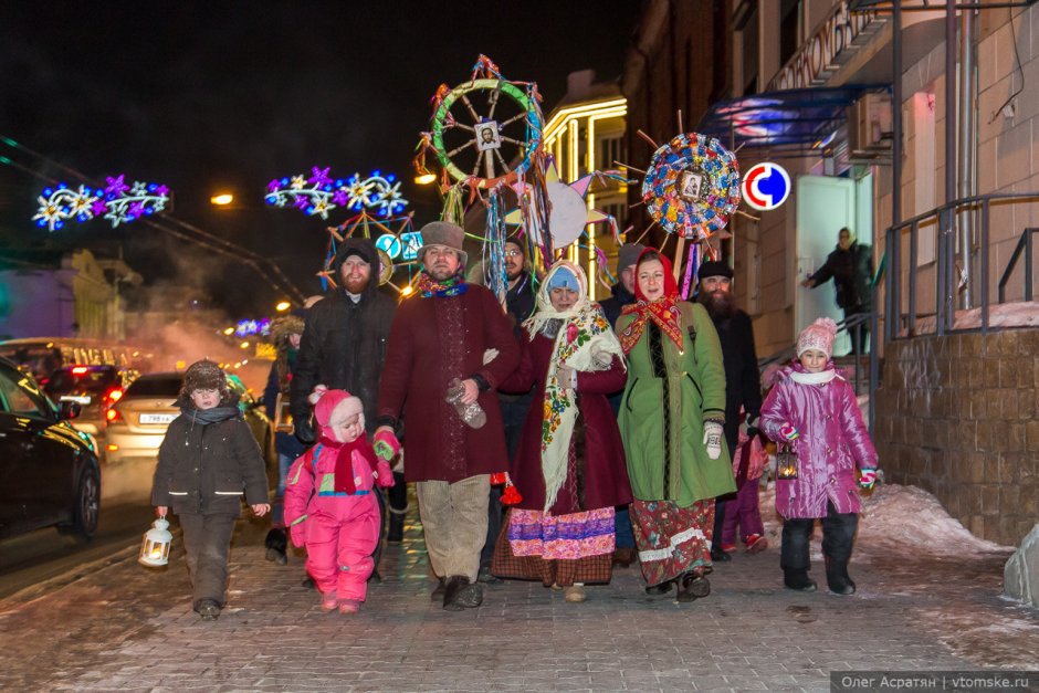
[[[612,507],[570,515],[512,508],[494,546],[491,573],[545,586],[609,582],[613,522]]]

